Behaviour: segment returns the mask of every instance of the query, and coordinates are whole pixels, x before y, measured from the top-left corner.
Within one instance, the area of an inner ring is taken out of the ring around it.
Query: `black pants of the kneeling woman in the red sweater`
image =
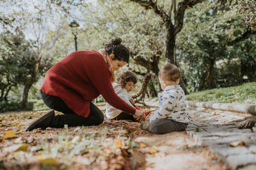
[[[74,126],[89,126],[89,125],[100,125],[104,121],[104,115],[102,111],[97,108],[92,102],[90,103],[90,114],[87,118],[82,117],[74,113],[74,111],[68,108],[67,104],[60,99],[60,97],[49,96],[44,92],[41,92],[44,103],[52,110],[60,111],[64,115],[58,115],[52,119],[49,127],[62,128],[65,124],[68,127]]]

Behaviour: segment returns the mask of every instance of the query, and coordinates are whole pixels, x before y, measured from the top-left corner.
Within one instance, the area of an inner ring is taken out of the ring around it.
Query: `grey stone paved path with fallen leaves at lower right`
[[[210,146],[230,169],[256,169],[256,127],[237,129],[249,114],[189,108],[192,118],[186,131],[198,145]]]

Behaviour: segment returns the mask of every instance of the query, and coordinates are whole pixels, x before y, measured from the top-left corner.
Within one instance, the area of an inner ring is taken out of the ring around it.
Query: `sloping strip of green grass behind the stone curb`
[[[250,100],[251,104],[256,104],[256,82],[244,83],[234,87],[192,92],[186,97],[188,101],[246,103],[246,100]]]

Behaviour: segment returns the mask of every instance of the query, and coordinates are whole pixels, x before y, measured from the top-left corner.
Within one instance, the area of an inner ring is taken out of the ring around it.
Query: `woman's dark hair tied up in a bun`
[[[111,39],[108,44],[105,45],[105,51],[110,55],[113,53],[115,57],[113,60],[120,60],[124,62],[129,62],[130,52],[128,48],[124,45],[121,45],[122,39],[116,37],[115,39]]]

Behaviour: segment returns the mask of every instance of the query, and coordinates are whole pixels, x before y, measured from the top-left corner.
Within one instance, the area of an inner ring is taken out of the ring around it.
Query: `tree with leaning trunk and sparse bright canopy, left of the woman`
[[[49,69],[49,62],[52,60],[52,46],[54,46],[54,43],[61,34],[65,34],[65,32],[57,29],[57,34],[54,34],[49,39],[45,39],[47,32],[51,29],[56,30],[57,25],[62,22],[62,18],[67,14],[65,10],[70,9],[68,8],[69,4],[69,2],[63,3],[62,1],[51,0],[44,2],[33,0],[1,1],[1,6],[9,11],[8,13],[1,11],[4,14],[3,18],[15,18],[11,23],[4,22],[5,24],[9,24],[6,29],[11,30],[14,28],[14,30],[12,29],[13,32],[15,32],[15,29],[19,29],[31,44],[31,53],[25,59],[28,72],[24,79],[26,82],[24,83],[22,95],[22,110],[26,110],[28,107],[29,89],[33,83],[38,81],[40,75]]]

